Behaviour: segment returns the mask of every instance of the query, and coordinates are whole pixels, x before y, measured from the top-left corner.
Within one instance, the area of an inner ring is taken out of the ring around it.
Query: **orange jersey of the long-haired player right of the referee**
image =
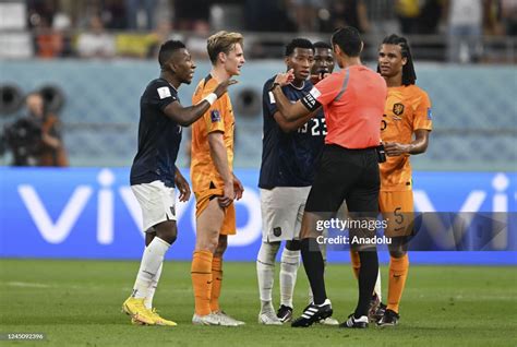
[[[418,129],[431,131],[431,100],[428,93],[416,85],[388,87],[386,106],[381,125],[383,142],[411,143]],[[386,157],[380,165],[381,190],[411,190],[411,164],[409,155]]]

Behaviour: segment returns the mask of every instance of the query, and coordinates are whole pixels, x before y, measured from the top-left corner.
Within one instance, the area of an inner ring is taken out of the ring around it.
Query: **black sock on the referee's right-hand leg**
[[[354,316],[368,315],[373,288],[378,273],[378,258],[376,250],[360,251],[361,270],[359,271],[359,301]]]

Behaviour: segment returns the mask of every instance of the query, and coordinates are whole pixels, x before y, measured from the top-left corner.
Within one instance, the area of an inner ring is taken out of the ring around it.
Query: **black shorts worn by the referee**
[[[378,213],[380,188],[375,147],[325,145],[305,211],[336,213],[346,201],[349,212]]]

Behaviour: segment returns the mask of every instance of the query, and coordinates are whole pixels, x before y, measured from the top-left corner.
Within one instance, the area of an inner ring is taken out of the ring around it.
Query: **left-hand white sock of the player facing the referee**
[[[261,296],[261,312],[274,311],[273,283],[275,276],[275,258],[280,242],[262,242],[256,256],[256,276],[258,279],[258,294]]]

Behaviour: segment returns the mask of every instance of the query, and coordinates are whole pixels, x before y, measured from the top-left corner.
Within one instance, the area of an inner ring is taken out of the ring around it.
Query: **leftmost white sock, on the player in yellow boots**
[[[139,274],[133,287],[133,297],[146,298],[149,295],[149,287],[153,278],[158,273],[161,263],[164,262],[165,253],[170,244],[155,237],[147,246],[142,256]]]

